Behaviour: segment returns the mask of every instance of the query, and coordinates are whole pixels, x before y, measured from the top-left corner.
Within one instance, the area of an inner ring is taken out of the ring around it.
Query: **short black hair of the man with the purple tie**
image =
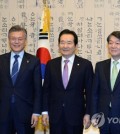
[[[61,38],[61,36],[63,34],[71,34],[71,35],[73,35],[75,46],[78,44],[78,36],[77,36],[77,34],[74,31],[69,30],[69,29],[64,29],[63,31],[60,32],[59,38],[58,38],[58,43],[60,43],[60,38]]]

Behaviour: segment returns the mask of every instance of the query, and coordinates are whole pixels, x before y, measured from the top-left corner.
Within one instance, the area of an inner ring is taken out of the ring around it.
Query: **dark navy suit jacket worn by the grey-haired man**
[[[39,59],[24,53],[15,85],[10,75],[10,55],[0,56],[0,122],[6,121],[10,110],[11,95],[21,121],[31,120],[32,113],[41,113],[41,71]]]

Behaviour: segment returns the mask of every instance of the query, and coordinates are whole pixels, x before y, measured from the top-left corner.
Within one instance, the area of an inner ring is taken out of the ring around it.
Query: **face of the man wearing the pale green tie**
[[[111,36],[108,43],[108,51],[113,59],[120,59],[120,40],[115,36]]]

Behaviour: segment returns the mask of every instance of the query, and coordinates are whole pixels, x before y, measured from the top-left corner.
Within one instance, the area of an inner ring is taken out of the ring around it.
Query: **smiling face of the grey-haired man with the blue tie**
[[[11,32],[9,35],[9,45],[12,51],[20,52],[26,46],[26,35],[23,31]]]

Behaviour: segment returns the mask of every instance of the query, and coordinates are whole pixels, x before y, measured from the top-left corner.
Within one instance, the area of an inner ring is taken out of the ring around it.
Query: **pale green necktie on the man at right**
[[[119,62],[118,61],[113,61],[113,68],[112,68],[112,77],[111,77],[111,88],[114,88],[115,85],[115,81],[118,75],[118,69],[117,69],[117,64]]]

